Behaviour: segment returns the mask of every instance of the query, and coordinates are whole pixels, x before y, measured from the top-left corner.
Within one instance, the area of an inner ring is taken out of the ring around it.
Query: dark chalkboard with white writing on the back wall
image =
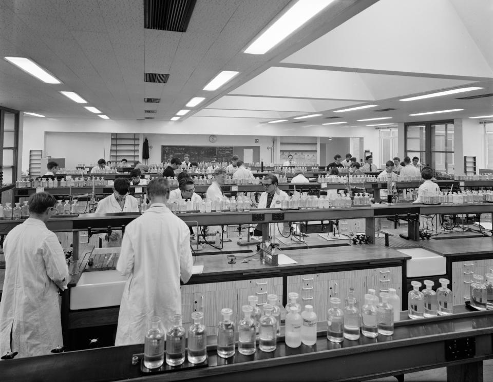
[[[171,158],[183,160],[185,154],[190,156],[190,162],[210,162],[217,157],[218,162],[228,162],[233,156],[233,146],[161,146],[163,163]]]

